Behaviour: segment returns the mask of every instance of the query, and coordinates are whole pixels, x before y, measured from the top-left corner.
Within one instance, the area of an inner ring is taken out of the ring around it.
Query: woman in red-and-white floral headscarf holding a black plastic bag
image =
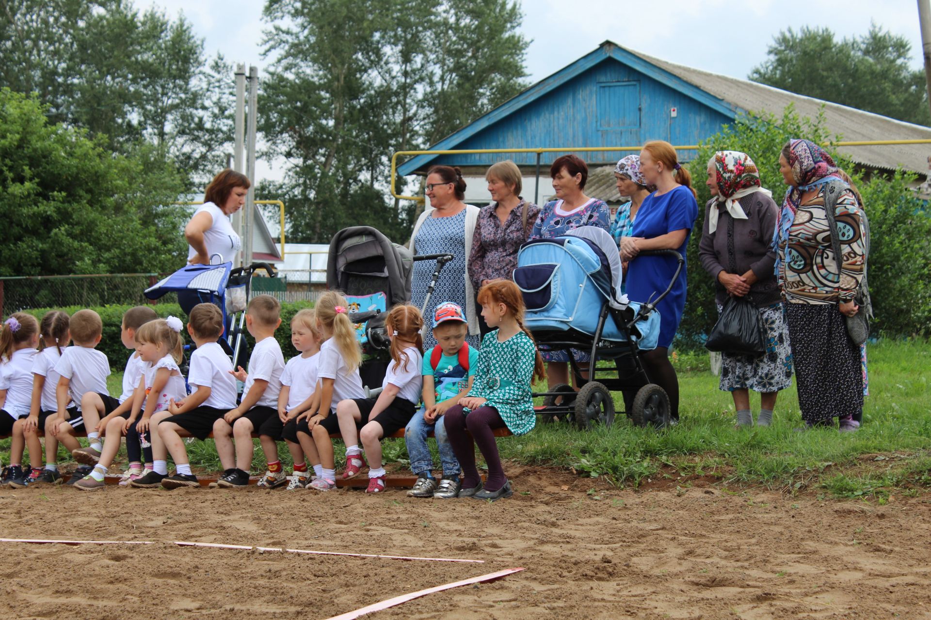
[[[721,389],[731,392],[737,425],[753,425],[749,390],[760,395],[757,425],[768,427],[776,396],[792,383],[792,352],[773,271],[778,208],[773,194],[762,189],[757,166],[744,152],[719,151],[708,160],[711,200],[705,205],[705,227],[698,256],[715,279],[718,312],[728,296],[747,297],[760,312],[766,350],[760,355],[722,353]]]

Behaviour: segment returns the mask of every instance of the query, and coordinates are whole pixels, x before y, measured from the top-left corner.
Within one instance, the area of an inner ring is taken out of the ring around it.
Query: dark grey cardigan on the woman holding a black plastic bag
[[[743,275],[749,270],[758,278],[750,286],[749,295],[757,308],[772,306],[781,301],[776,275],[776,252],[772,248],[773,231],[776,230],[777,207],[772,198],[754,191],[739,200],[747,219],[735,219],[721,208],[718,216],[718,230],[708,232],[708,213],[717,209],[718,201],[712,198],[705,205],[705,225],[702,229],[701,242],[698,244],[698,257],[702,267],[714,278],[715,300],[723,304],[727,299],[727,289],[718,282],[721,271]]]

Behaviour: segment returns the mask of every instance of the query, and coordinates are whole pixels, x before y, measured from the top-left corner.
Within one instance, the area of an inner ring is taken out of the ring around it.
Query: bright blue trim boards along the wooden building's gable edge
[[[621,62],[624,65],[627,65],[630,69],[634,71],[643,73],[649,77],[654,78],[654,80],[680,92],[682,95],[695,99],[699,103],[707,106],[715,112],[720,112],[724,116],[734,119],[738,112],[743,112],[741,109],[737,108],[735,105],[725,102],[723,99],[718,99],[713,95],[709,95],[707,92],[701,88],[689,84],[681,77],[675,75],[674,73],[669,73],[665,69],[662,69],[652,62],[649,62],[646,59],[642,59],[636,54],[631,53],[624,47],[618,46],[617,44],[611,41],[605,41],[602,43],[598,49],[595,49],[591,53],[583,56],[581,59],[574,61],[572,64],[563,67],[557,73],[553,73],[548,77],[540,80],[533,86],[530,86],[519,95],[515,96],[512,99],[508,99],[506,102],[499,105],[497,108],[488,112],[478,119],[466,125],[462,129],[452,133],[450,136],[447,136],[444,139],[439,140],[434,145],[430,146],[431,151],[445,151],[453,150],[457,145],[461,144],[466,139],[469,139],[479,132],[487,129],[488,127],[498,123],[502,119],[506,118],[510,114],[518,112],[520,109],[525,106],[533,103],[537,99],[545,97],[548,93],[552,92],[556,88],[566,84],[572,80],[577,75],[587,72],[589,69],[599,64],[600,62],[606,59],[614,59],[618,62]],[[565,146],[584,146],[584,145],[565,145]],[[419,170],[429,164],[432,160],[439,157],[439,155],[426,154],[426,155],[417,155],[412,159],[404,162],[398,166],[398,174],[401,176],[407,176],[413,174],[416,170]]]

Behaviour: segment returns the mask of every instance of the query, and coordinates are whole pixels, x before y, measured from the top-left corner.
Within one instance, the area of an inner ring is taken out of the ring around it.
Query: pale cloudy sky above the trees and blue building
[[[929,0],[919,0],[927,2]],[[169,17],[183,14],[204,37],[205,52],[259,68],[262,0],[135,0]],[[532,41],[526,66],[531,83],[572,63],[610,39],[659,59],[746,78],[766,57],[773,36],[803,25],[827,26],[839,36],[865,34],[870,22],[911,42],[912,64],[922,65],[916,0],[523,0],[521,33]],[[651,15],[650,7],[658,7]],[[259,111],[260,113],[262,111]],[[257,162],[260,178],[280,178],[280,165]]]

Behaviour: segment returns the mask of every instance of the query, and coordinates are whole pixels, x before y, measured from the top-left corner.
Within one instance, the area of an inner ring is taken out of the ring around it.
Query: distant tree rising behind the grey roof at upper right
[[[924,71],[911,69],[911,44],[870,26],[838,41],[828,28],[789,28],[774,37],[768,59],[749,79],[901,121],[931,125]]]

